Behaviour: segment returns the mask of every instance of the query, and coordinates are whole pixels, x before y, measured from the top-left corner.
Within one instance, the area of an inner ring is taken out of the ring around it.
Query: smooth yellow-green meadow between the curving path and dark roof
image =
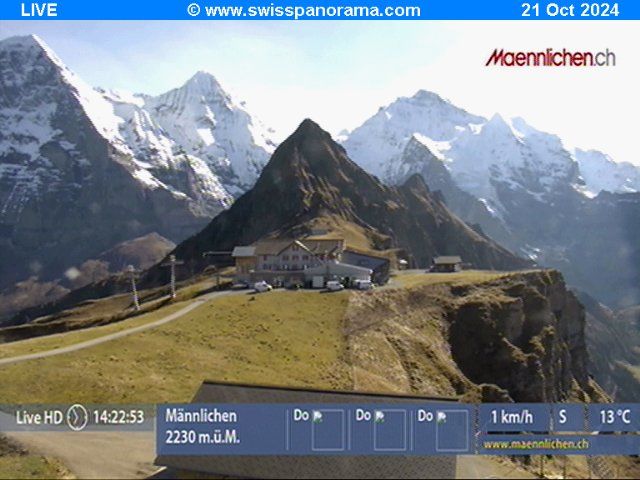
[[[351,388],[342,332],[348,298],[221,297],[158,328],[0,367],[0,403],[181,402],[205,379]]]

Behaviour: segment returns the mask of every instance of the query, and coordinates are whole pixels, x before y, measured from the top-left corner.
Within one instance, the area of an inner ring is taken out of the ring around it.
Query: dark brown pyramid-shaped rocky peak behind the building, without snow
[[[275,150],[255,186],[176,255],[196,271],[203,251],[294,235],[318,221],[366,232],[371,243],[363,248],[404,249],[424,266],[438,254],[461,255],[479,268],[530,265],[455,217],[419,175],[400,188],[383,185],[310,119]]]

